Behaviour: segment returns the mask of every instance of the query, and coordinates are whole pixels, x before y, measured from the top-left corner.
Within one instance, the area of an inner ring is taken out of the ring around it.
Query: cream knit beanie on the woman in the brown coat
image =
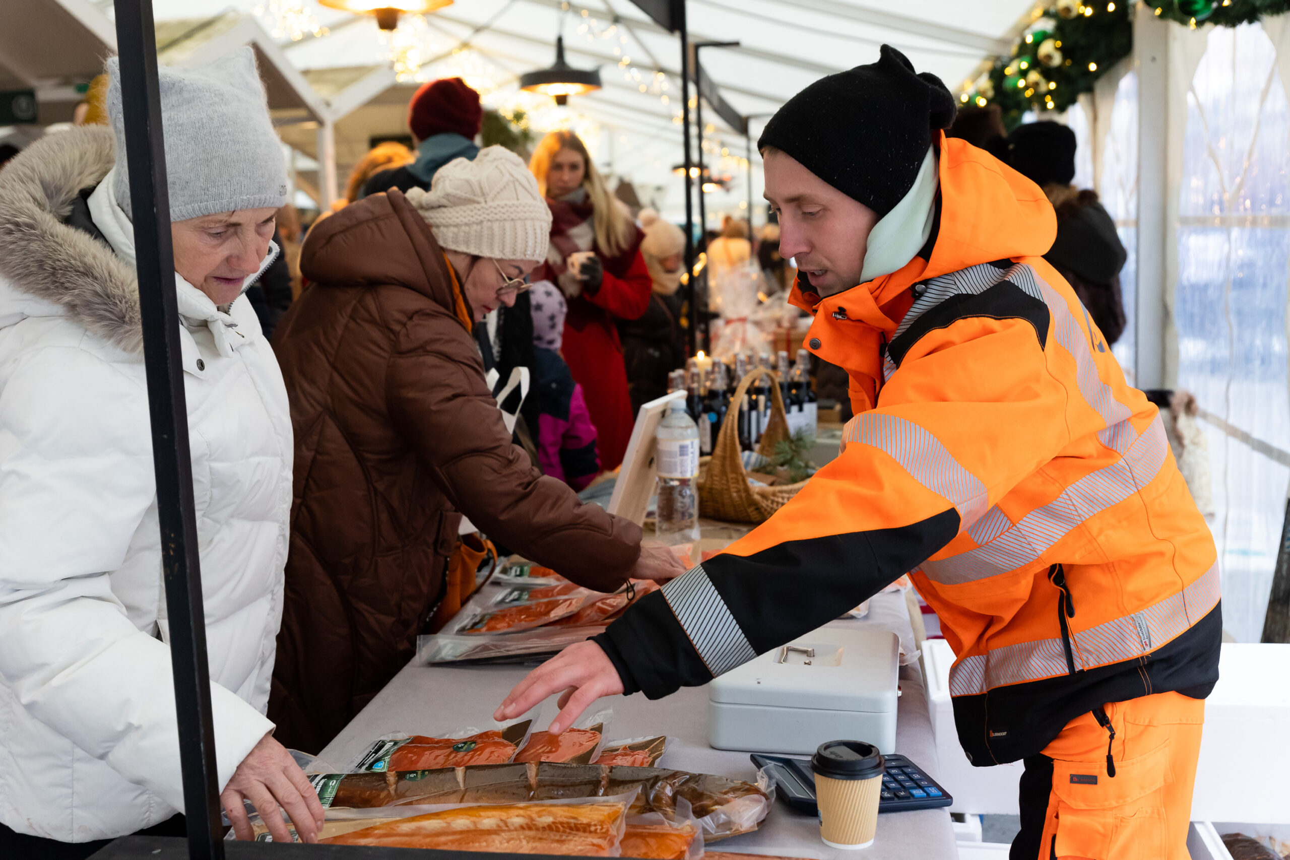
[[[485,147],[473,161],[449,161],[430,191],[410,190],[408,202],[448,250],[494,259],[547,258],[551,209],[520,156],[503,147]]]

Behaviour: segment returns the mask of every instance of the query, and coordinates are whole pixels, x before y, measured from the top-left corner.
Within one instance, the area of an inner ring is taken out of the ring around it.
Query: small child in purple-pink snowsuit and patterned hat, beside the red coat
[[[530,293],[533,309],[533,364],[537,370],[538,465],[574,490],[582,490],[600,473],[596,427],[591,423],[582,386],[573,380],[560,356],[564,294],[551,281],[538,281]]]

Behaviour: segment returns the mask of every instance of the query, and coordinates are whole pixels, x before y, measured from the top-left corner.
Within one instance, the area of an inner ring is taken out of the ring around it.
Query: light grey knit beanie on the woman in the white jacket
[[[130,215],[121,70],[107,61],[107,115],[116,133],[112,193]],[[286,162],[250,48],[206,66],[157,67],[170,220],[286,202]],[[132,215],[133,217],[133,215]]]

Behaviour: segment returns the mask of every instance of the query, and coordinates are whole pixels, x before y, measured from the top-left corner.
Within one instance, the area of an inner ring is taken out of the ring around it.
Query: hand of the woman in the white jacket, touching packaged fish
[[[319,830],[322,829],[326,814],[319,802],[317,792],[310,785],[308,777],[292,754],[273,740],[272,735],[261,738],[259,743],[246,753],[246,758],[233,771],[228,785],[219,796],[219,802],[223,803],[224,812],[233,825],[233,834],[239,839],[249,841],[255,838],[255,833],[246,816],[243,798],[255,806],[273,842],[292,841],[279,808],[290,816],[301,842],[319,841]]]

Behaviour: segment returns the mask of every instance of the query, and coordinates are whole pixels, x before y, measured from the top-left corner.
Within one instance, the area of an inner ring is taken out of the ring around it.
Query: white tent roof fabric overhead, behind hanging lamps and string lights
[[[232,5],[263,13],[273,4],[235,0]],[[315,0],[280,0],[276,5],[301,8],[329,30],[321,37],[283,39],[286,57],[307,77],[328,68],[388,62],[388,40],[373,18],[326,9]],[[1031,5],[1031,0],[926,0],[893,12],[877,0],[690,0],[688,9],[693,40],[740,41],[735,49],[703,50],[702,63],[730,106],[755,117],[751,128],[756,135],[766,116],[802,86],[871,62],[882,43],[900,48],[920,71],[939,75],[955,89],[987,54],[1009,49],[1013,28]],[[155,0],[159,21],[227,8],[227,0]],[[273,21],[268,14],[261,18],[266,26]],[[666,217],[684,217],[681,182],[672,173],[681,161],[680,48],[676,36],[630,0],[457,0],[419,21],[405,19],[396,37],[433,61],[422,66],[418,77],[462,73],[481,89],[494,90],[486,98],[490,104],[531,107],[543,99],[517,98],[516,79],[551,64],[557,32],[565,36],[569,62],[599,66],[605,86],[570,98],[568,110],[556,110],[544,99],[538,110],[530,110],[533,125],[539,130],[571,125],[584,132],[606,173],[631,181],[641,199],[658,205]],[[401,94],[404,103],[406,95]],[[715,175],[729,177],[728,190],[707,197],[710,219],[715,220],[720,213],[740,213],[746,205],[747,171],[740,159],[747,155],[747,142],[707,106],[704,125],[710,126],[706,160]],[[361,156],[352,152],[359,144],[347,144],[343,135],[338,139],[342,181],[347,164]],[[301,148],[313,150],[304,141]],[[752,171],[755,208],[761,197],[759,174]]]

